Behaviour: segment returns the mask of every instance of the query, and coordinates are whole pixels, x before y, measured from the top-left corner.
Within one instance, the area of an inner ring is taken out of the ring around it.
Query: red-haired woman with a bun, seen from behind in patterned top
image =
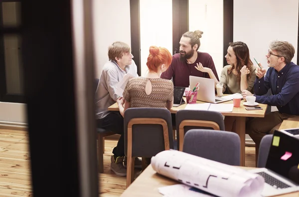
[[[132,78],[124,90],[124,98],[117,100],[120,113],[124,116],[130,107],[157,107],[170,109],[173,105],[173,83],[160,75],[167,70],[172,60],[170,52],[163,47],[151,46],[145,77]]]

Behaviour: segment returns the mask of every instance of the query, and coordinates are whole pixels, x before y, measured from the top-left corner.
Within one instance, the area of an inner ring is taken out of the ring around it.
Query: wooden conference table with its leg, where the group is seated
[[[184,100],[186,98],[184,97]],[[185,100],[186,101],[186,100]],[[197,101],[196,103],[205,103],[202,101]],[[223,102],[221,104],[232,104],[233,101]],[[262,107],[262,110],[246,110],[243,105],[244,100],[241,101],[240,107],[234,107],[233,112],[221,112],[224,116],[233,116],[236,118],[236,133],[239,135],[241,140],[241,156],[240,156],[240,166],[245,166],[245,122],[246,117],[260,117],[263,118],[265,116],[267,105],[259,104]],[[180,105],[178,107],[172,107],[169,111],[172,114],[176,114],[177,111],[185,109],[187,104]],[[115,103],[108,107],[109,111],[119,111],[118,104]]]

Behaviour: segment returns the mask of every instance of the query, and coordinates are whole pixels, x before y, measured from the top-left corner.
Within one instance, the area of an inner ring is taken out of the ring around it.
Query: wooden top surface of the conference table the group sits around
[[[186,98],[184,97],[184,100]],[[205,103],[203,101],[196,101],[196,103]],[[233,101],[227,101],[227,102],[223,102],[221,104],[232,104]],[[224,116],[241,116],[241,117],[260,117],[263,118],[265,117],[265,113],[267,110],[267,105],[266,104],[259,104],[260,107],[262,107],[262,110],[246,110],[245,107],[243,105],[244,100],[241,100],[241,105],[240,107],[234,107],[233,112],[221,112],[222,115]],[[183,104],[180,105],[178,107],[172,107],[169,111],[172,114],[175,114],[177,111],[185,109],[185,107],[187,106],[187,104]],[[110,107],[108,107],[109,111],[119,111],[118,108],[118,104],[115,103],[113,105],[111,105]]]

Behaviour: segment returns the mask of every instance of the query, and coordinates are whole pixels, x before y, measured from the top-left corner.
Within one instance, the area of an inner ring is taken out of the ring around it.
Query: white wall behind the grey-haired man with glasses
[[[253,57],[267,69],[265,55],[271,40],[298,45],[298,0],[234,0],[234,41],[245,42]]]

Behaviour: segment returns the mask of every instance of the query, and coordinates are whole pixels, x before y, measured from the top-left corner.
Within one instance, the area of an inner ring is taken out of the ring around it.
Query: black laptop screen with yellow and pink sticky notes
[[[299,139],[275,130],[266,168],[299,184]]]

